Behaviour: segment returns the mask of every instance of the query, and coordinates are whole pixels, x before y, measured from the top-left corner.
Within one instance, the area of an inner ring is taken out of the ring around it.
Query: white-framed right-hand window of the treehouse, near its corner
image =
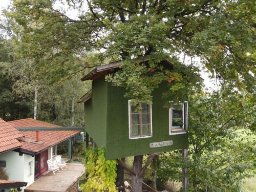
[[[169,109],[169,134],[182,134],[187,131],[188,102],[174,104]]]

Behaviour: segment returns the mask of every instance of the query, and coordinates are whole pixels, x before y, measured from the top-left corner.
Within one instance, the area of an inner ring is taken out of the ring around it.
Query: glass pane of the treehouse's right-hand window
[[[183,104],[176,104],[172,108],[172,130],[178,131],[183,127]]]

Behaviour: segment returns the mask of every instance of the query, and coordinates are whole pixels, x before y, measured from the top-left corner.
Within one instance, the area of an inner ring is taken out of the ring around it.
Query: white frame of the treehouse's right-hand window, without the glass
[[[173,128],[173,108],[169,108],[169,135],[179,135],[179,134],[186,134],[187,133],[187,125],[188,125],[188,101],[184,101],[183,103],[178,103],[182,104],[182,130],[179,131],[172,131]],[[184,117],[184,104],[186,104],[186,117]],[[186,124],[184,123],[184,119],[186,118]],[[184,127],[185,124],[185,127]],[[175,126],[174,126],[175,127]]]

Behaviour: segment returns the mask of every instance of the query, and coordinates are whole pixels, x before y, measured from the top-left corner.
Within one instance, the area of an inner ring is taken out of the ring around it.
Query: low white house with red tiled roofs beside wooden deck
[[[0,166],[10,180],[28,186],[48,170],[47,160],[56,155],[57,144],[80,131],[18,131],[19,127],[61,127],[32,118],[5,122],[0,118]],[[9,139],[8,139],[9,138]],[[8,139],[8,141],[6,141]]]

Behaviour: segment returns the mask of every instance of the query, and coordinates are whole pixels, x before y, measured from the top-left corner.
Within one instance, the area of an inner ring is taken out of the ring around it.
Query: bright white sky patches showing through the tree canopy
[[[10,5],[10,0],[0,0],[0,13],[2,12],[1,10],[2,9],[5,9],[8,7],[8,5]],[[67,5],[61,5],[59,2],[56,3],[56,8],[58,7],[64,7],[65,9],[65,12],[67,14],[67,16],[75,19],[77,18],[77,16],[79,15],[79,10],[70,10],[70,9],[67,9]],[[86,10],[87,9],[87,5],[82,5],[82,9],[81,10]],[[187,62],[190,62],[187,60]],[[200,59],[199,58],[196,58],[196,62],[198,62],[198,65],[200,66]],[[200,72],[200,75],[201,77],[204,79],[204,83],[205,83],[205,87],[207,89],[210,89],[210,90],[217,90],[217,86],[216,86],[216,83],[214,80],[211,80],[208,76],[209,74],[204,71],[204,70],[201,70]],[[209,90],[209,91],[210,91]]]

